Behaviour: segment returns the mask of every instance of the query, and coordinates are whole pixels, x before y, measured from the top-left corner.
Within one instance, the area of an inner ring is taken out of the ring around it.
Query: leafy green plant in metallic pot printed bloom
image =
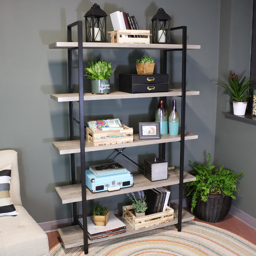
[[[99,60],[97,62],[87,62],[90,68],[84,68],[88,79],[92,79],[92,93],[93,94],[107,94],[110,93],[110,77],[116,70],[112,69],[112,62]]]

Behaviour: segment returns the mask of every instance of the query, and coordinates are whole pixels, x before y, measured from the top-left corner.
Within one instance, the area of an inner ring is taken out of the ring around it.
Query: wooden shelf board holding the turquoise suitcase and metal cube
[[[179,184],[180,179],[180,169],[173,169],[168,171],[167,180],[157,180],[150,181],[144,175],[138,174],[133,176],[133,186],[128,188],[121,188],[116,191],[103,191],[92,193],[88,188],[86,188],[86,200],[102,198],[107,196],[116,196],[125,193],[135,192],[139,190],[146,190],[150,188],[158,188],[164,186],[171,186],[175,184]],[[183,183],[188,181],[196,180],[196,178],[189,174],[188,172],[184,172]],[[62,204],[68,204],[73,202],[82,201],[82,188],[81,184],[73,184],[61,187],[55,187]]]

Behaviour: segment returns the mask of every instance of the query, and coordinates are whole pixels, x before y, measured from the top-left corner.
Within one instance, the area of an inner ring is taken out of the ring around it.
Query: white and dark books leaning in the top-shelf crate
[[[114,30],[118,29],[139,29],[138,23],[134,15],[130,16],[127,12],[113,12],[110,13],[110,19]],[[122,37],[141,37],[132,35],[121,35]]]

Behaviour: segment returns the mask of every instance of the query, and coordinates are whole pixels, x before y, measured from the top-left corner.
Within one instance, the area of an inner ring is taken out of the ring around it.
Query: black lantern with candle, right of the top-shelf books
[[[171,37],[171,17],[163,8],[158,9],[152,18],[152,43],[170,44]]]

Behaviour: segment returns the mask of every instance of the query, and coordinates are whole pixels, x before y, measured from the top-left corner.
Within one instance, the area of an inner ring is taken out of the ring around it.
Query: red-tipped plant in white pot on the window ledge
[[[252,88],[252,86],[250,87],[252,79],[245,81],[246,77],[244,76],[241,82],[238,82],[238,75],[236,75],[236,73],[232,73],[230,76],[231,77],[228,79],[229,84],[218,83],[216,85],[222,86],[225,89],[224,93],[231,96],[234,115],[244,116],[247,99],[251,97],[249,89]]]

